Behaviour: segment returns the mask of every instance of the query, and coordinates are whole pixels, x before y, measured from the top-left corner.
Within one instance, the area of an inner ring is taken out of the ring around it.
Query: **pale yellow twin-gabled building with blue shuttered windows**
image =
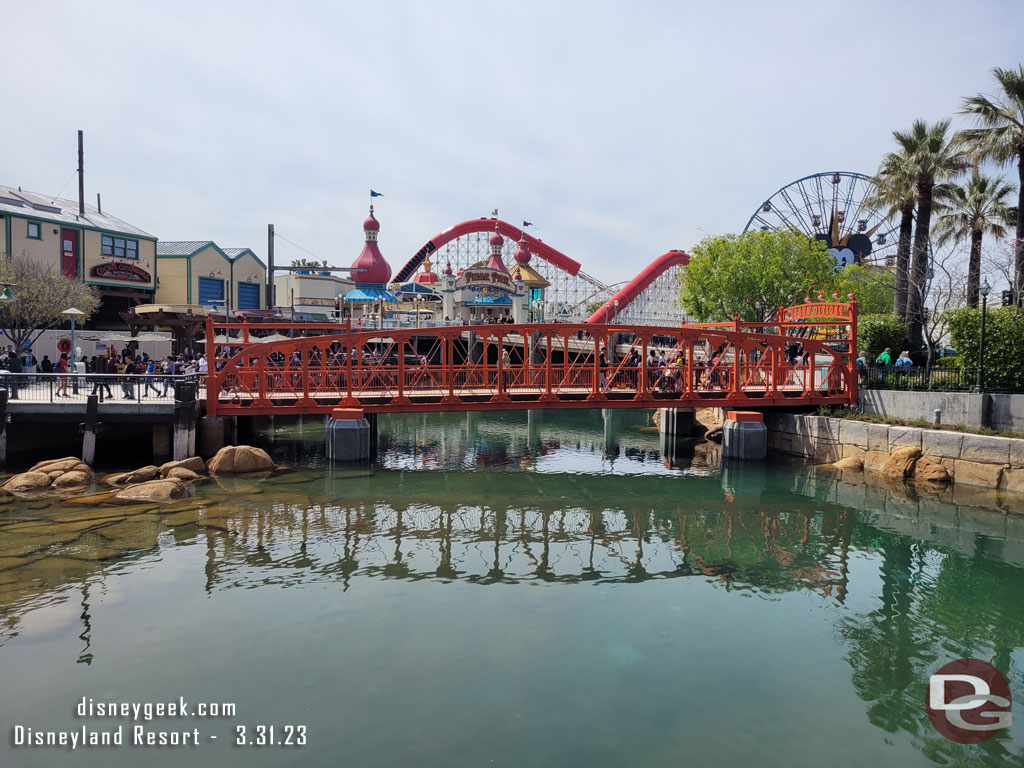
[[[163,241],[155,303],[216,306],[221,311],[266,308],[266,265],[249,248],[212,241]]]

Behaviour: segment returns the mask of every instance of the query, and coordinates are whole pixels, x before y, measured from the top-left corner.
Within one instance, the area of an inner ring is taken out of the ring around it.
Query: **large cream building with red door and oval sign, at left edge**
[[[95,286],[97,325],[153,301],[157,239],[96,206],[0,185],[0,256],[29,258]]]

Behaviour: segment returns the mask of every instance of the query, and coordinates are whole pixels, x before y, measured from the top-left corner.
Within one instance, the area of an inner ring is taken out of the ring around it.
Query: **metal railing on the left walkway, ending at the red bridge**
[[[94,394],[99,402],[174,402],[174,385],[195,383],[198,390],[206,377],[200,374],[12,374],[0,371],[0,389],[14,402],[85,403]],[[202,395],[200,395],[202,396]]]

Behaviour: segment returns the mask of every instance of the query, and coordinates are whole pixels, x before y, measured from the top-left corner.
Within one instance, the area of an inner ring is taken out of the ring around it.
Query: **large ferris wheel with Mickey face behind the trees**
[[[828,171],[804,176],[762,203],[743,231],[803,232],[824,242],[837,268],[892,263],[899,223],[886,210],[870,205],[874,191],[874,181],[861,173]]]

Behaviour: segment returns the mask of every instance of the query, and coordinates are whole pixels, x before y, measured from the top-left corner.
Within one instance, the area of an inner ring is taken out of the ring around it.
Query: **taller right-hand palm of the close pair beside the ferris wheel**
[[[949,121],[929,125],[915,120],[909,131],[894,131],[893,138],[906,156],[918,186],[918,221],[913,232],[910,280],[907,288],[908,341],[910,349],[921,349],[925,323],[925,289],[928,274],[929,237],[932,226],[932,198],[936,183],[952,178],[968,167],[968,156],[946,136]]]

